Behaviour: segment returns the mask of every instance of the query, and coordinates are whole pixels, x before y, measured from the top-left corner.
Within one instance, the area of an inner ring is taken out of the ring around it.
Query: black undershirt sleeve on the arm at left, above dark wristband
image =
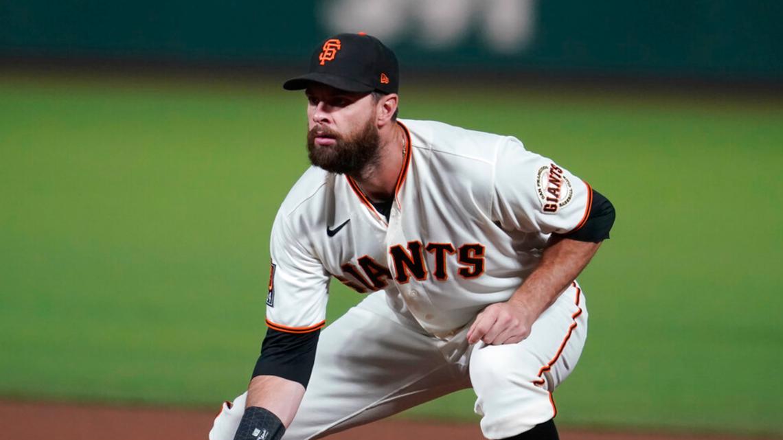
[[[316,361],[316,346],[321,330],[305,334],[286,333],[268,328],[255,363],[253,377],[267,375],[294,380],[307,388]]]

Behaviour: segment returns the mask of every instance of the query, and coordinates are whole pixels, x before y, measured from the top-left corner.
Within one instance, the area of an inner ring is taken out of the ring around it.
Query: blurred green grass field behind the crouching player
[[[241,391],[304,105],[276,81],[0,75],[0,395]],[[401,117],[516,135],[615,204],[560,424],[783,435],[781,101],[410,85]],[[329,319],[359,299],[335,286]]]

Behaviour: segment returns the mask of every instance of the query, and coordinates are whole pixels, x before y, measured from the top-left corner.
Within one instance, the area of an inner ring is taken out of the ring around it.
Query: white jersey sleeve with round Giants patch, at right
[[[494,177],[492,217],[503,229],[565,234],[590,215],[590,186],[518,139],[501,142]]]

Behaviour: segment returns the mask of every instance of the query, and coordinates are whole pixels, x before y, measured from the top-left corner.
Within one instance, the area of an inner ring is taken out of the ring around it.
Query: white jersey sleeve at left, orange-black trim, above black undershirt
[[[326,323],[329,273],[288,218],[278,212],[269,240],[272,269],[266,299],[266,324],[287,333],[309,333]]]

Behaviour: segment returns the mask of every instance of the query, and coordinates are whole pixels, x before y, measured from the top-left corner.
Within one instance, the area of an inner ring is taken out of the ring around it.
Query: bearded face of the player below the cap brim
[[[316,167],[356,175],[378,160],[376,102],[370,93],[313,83],[308,98],[307,149]]]

